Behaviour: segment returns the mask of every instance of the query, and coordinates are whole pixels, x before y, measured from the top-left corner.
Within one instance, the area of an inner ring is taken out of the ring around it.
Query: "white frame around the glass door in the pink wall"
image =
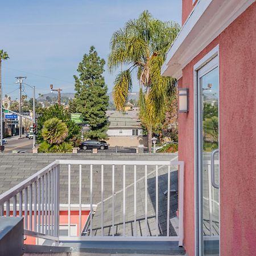
[[[216,59],[215,59],[216,58]],[[193,83],[193,88],[194,88],[194,183],[195,183],[195,255],[196,256],[201,256],[201,239],[199,232],[201,232],[201,222],[199,221],[201,219],[201,202],[199,202],[199,199],[201,198],[201,191],[199,189],[199,184],[201,183],[201,176],[199,175],[198,170],[201,168],[201,163],[199,162],[198,154],[197,152],[200,150],[200,138],[198,137],[198,129],[200,127],[200,120],[198,113],[198,98],[199,94],[198,91],[200,89],[200,85],[197,82],[197,72],[199,69],[203,68],[205,65],[210,63],[211,60],[214,59],[214,62],[209,65],[207,70],[205,70],[204,73],[208,73],[210,70],[213,68],[216,68],[219,66],[219,47],[218,45],[214,47],[211,51],[209,51],[200,61],[198,61],[194,67],[193,67],[193,77],[194,77],[194,83]],[[220,91],[220,76],[219,76],[219,91]],[[219,94],[220,95],[220,94]],[[218,117],[219,117],[219,138],[220,138],[220,100],[219,100],[219,107],[218,107]],[[219,139],[219,148],[220,148],[220,139]],[[219,154],[219,160],[220,160],[220,154]],[[200,204],[199,204],[200,203]]]

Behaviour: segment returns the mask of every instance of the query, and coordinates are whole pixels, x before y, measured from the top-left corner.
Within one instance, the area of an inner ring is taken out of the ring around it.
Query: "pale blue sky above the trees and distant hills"
[[[94,45],[106,60],[113,32],[145,9],[155,18],[181,22],[181,0],[3,1],[0,49],[10,56],[2,63],[3,94],[18,97],[16,76],[27,76],[26,83],[36,86],[36,96],[50,92],[49,84],[73,92],[73,75],[89,47]],[[115,74],[105,69],[111,92]],[[24,91],[31,97],[30,88]]]

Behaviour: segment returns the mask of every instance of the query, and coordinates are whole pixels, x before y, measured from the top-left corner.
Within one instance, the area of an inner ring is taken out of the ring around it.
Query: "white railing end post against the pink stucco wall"
[[[183,246],[184,162],[179,169],[179,246]]]

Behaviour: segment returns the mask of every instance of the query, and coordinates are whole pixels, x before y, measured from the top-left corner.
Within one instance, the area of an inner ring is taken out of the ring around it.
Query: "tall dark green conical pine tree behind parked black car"
[[[98,56],[94,46],[90,47],[89,54],[85,54],[79,63],[75,78],[75,98],[77,112],[81,113],[90,126],[85,137],[90,139],[105,139],[107,137],[108,118],[106,110],[109,105],[108,87],[102,73],[105,60]]]

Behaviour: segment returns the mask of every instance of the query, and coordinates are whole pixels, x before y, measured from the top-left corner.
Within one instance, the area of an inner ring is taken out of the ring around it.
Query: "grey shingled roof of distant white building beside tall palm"
[[[127,112],[120,112],[117,110],[109,110],[106,114],[110,122],[109,128],[141,127],[141,122],[138,118],[138,111],[131,110]]]

